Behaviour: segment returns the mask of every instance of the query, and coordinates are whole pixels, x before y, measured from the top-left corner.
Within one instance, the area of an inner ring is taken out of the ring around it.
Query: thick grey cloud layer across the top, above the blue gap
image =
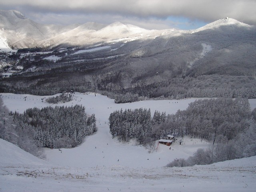
[[[106,16],[109,20],[135,18],[144,24],[146,20],[161,23],[170,16],[204,22],[230,17],[256,25],[255,0],[0,0],[0,4],[2,9],[24,10],[25,15],[102,16],[103,20]]]

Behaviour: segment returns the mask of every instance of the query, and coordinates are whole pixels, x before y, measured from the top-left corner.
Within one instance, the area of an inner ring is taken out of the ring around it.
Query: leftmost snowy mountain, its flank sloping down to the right
[[[0,33],[14,48],[36,47],[40,40],[56,36],[76,28],[70,26],[45,25],[36,23],[15,10],[0,10]]]

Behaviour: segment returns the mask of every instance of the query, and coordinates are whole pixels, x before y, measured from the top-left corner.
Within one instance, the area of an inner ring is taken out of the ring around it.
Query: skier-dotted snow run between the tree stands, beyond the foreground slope
[[[27,108],[43,108],[50,105],[42,102],[42,98],[47,98],[44,96],[3,94],[2,97],[4,104],[13,112],[16,110],[23,113]],[[201,142],[200,139],[191,140],[190,138],[184,138],[181,146],[178,143],[174,143],[172,144],[172,150],[170,150],[168,146],[161,144],[158,145],[158,150],[156,151],[155,147],[146,149],[141,145],[136,145],[133,141],[120,143],[117,138],[112,139],[109,131],[108,118],[110,113],[115,110],[121,110],[121,108],[123,110],[150,108],[152,116],[155,110],[165,111],[166,114],[173,114],[178,109],[186,109],[190,102],[196,100],[194,98],[187,100],[146,100],[126,104],[115,104],[113,99],[99,94],[95,96],[93,93],[88,95],[76,93],[73,98],[73,101],[59,105],[72,106],[82,104],[85,106],[87,114],[95,114],[98,132],[92,136],[87,136],[84,142],[76,148],[61,149],[61,153],[58,149],[46,148],[45,152],[48,160],[58,165],[72,167],[120,165],[132,168],[151,168],[166,166],[175,158],[187,158],[198,148],[208,147],[208,143],[205,141]],[[74,160],[74,156],[76,156],[76,160]]]

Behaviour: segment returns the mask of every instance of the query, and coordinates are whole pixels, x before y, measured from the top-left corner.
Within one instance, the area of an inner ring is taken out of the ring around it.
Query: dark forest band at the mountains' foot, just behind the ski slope
[[[64,69],[63,69],[64,70]],[[119,74],[119,75],[118,75]],[[31,76],[30,76],[31,75]],[[168,78],[162,75],[127,80],[129,72],[64,72],[52,69],[45,74],[33,72],[0,80],[0,92],[54,95],[66,90],[98,92],[116,99],[116,103],[142,98],[256,98],[256,83],[250,76],[203,75]],[[127,87],[127,84],[129,85]],[[29,87],[29,88],[28,88]]]

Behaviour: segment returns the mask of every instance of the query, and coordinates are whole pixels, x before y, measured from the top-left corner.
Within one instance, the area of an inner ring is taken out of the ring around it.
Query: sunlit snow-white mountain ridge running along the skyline
[[[196,30],[178,30],[179,33],[199,32],[218,28],[220,26],[243,26],[243,24],[232,18],[217,20]],[[16,10],[0,10],[0,35],[7,39],[7,43],[13,48],[32,47],[54,47],[61,44],[71,46],[91,46],[99,42],[108,42],[106,39],[114,40],[132,36],[160,36],[168,30],[146,30],[132,24],[114,22],[112,24],[99,24],[87,22],[85,24],[73,24],[69,26],[39,24],[26,18]],[[169,30],[170,31],[170,30]]]

